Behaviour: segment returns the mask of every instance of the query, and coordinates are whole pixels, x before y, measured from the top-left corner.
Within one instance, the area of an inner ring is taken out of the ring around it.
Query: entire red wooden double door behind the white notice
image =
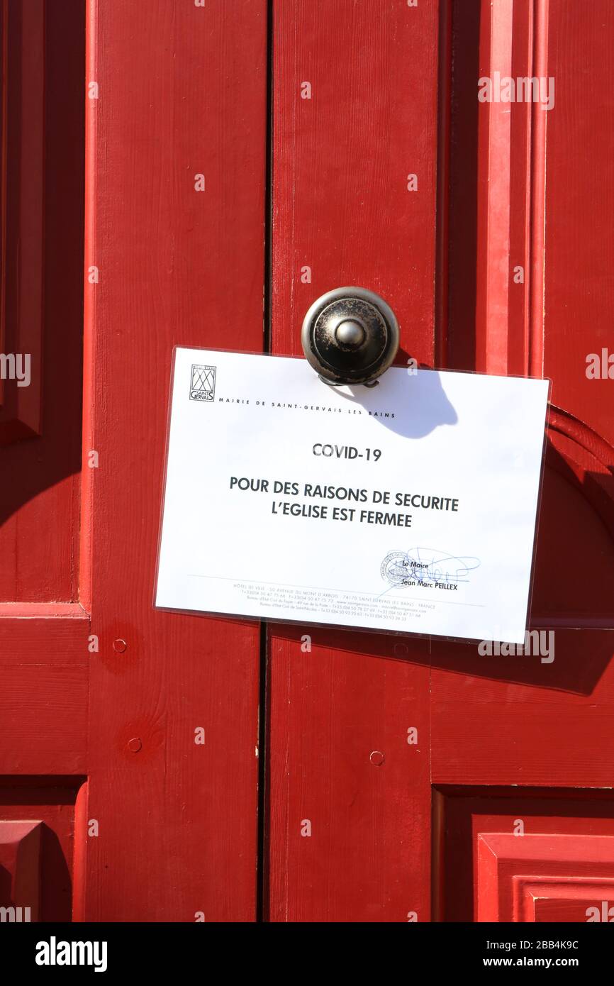
[[[32,357],[0,381],[0,905],[609,919],[610,0],[0,8],[0,348]],[[495,73],[554,105],[481,103]],[[401,364],[552,379],[537,653],[154,610],[172,346],[298,354],[346,284]]]

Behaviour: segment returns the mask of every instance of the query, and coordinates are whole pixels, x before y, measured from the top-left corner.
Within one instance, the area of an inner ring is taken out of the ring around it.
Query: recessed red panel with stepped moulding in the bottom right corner
[[[434,818],[438,921],[586,921],[612,896],[608,790],[440,786]]]

